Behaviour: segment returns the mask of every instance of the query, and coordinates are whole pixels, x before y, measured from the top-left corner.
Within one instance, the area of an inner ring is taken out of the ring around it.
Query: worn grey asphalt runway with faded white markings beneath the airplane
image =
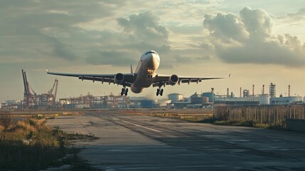
[[[100,138],[75,142],[102,170],[305,170],[305,134],[146,115],[87,113],[48,120]]]

